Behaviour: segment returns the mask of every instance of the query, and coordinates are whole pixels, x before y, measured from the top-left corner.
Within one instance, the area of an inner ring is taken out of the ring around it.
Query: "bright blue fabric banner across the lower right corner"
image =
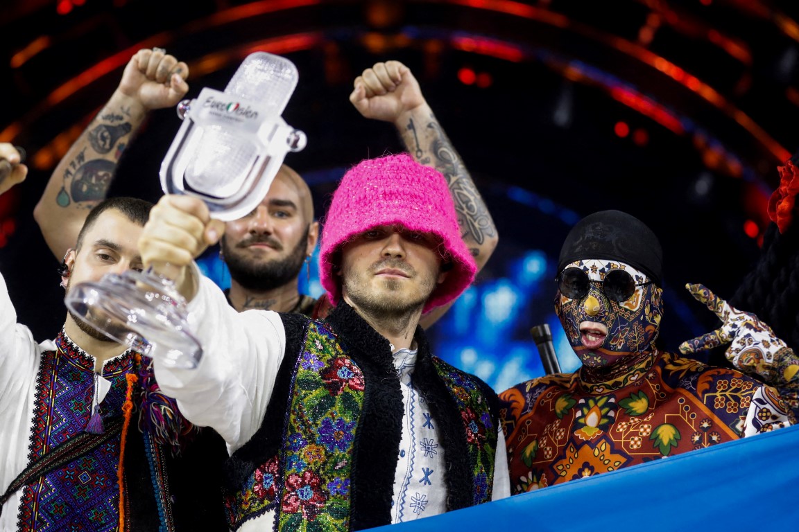
[[[793,532],[799,530],[799,426],[372,530]]]

